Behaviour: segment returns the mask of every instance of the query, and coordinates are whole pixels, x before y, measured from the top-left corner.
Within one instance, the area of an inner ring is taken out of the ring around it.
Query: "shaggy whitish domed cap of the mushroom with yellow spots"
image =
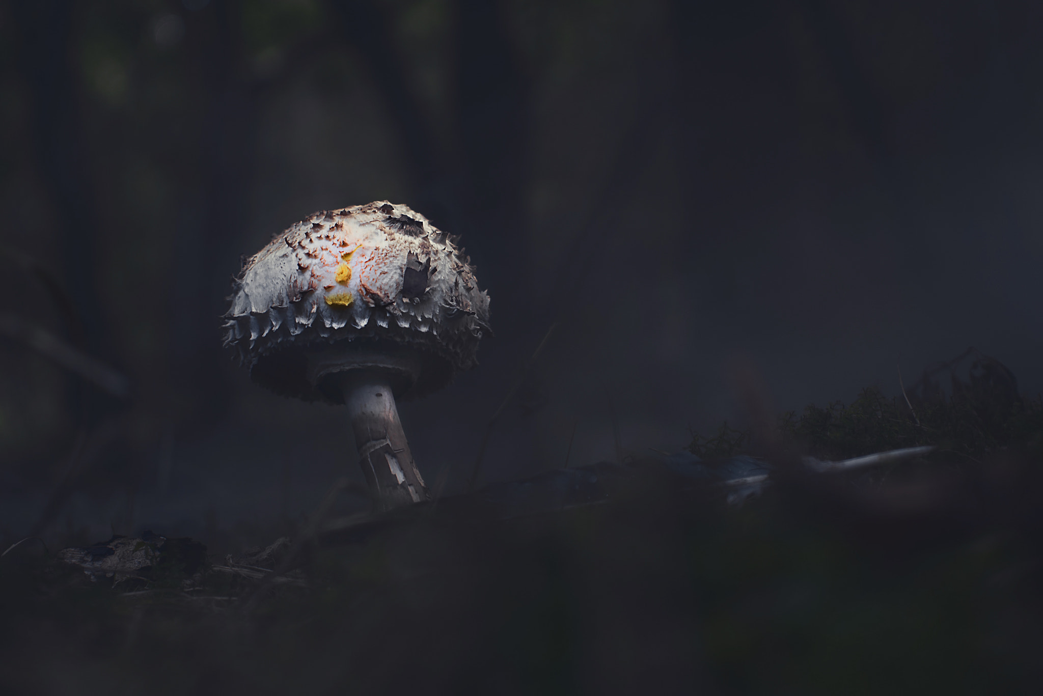
[[[320,211],[275,235],[233,281],[224,344],[277,393],[338,402],[309,358],[374,353],[418,365],[396,395],[478,364],[489,295],[456,240],[406,206]]]

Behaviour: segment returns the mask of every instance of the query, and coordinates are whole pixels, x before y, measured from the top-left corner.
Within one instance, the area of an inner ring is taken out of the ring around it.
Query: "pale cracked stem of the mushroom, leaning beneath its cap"
[[[359,465],[382,509],[431,499],[398,419],[391,380],[380,369],[335,377],[351,418]]]

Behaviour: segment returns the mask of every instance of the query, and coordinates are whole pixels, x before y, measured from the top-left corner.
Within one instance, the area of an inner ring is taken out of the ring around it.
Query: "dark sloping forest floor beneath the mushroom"
[[[155,535],[59,553],[30,539],[0,559],[0,685],[1035,693],[1043,404],[994,363],[978,357],[947,393],[925,374],[898,399],[868,389],[695,436],[710,465],[741,453],[774,463],[772,485],[742,505],[631,459],[641,475],[601,503],[504,519],[446,499],[224,558]],[[938,449],[849,476],[798,463],[916,445]],[[97,570],[117,556],[138,570]]]

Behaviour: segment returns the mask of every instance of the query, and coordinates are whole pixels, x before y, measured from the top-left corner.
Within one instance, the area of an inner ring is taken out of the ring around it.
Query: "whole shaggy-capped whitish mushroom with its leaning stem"
[[[379,200],[291,225],[234,279],[224,343],[276,393],[347,406],[383,509],[430,499],[396,399],[477,364],[489,295],[457,240]]]

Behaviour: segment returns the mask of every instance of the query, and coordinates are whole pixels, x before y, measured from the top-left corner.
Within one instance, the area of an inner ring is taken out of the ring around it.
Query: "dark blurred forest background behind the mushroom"
[[[0,533],[220,548],[361,480],[341,412],[252,385],[219,315],[241,255],[377,199],[462,235],[492,297],[479,369],[402,405],[451,491],[555,320],[487,480],[742,425],[744,370],[781,410],[895,393],[899,367],[908,383],[974,345],[1036,393],[1041,20],[927,0],[4,0]],[[127,393],[67,368],[82,356]]]

